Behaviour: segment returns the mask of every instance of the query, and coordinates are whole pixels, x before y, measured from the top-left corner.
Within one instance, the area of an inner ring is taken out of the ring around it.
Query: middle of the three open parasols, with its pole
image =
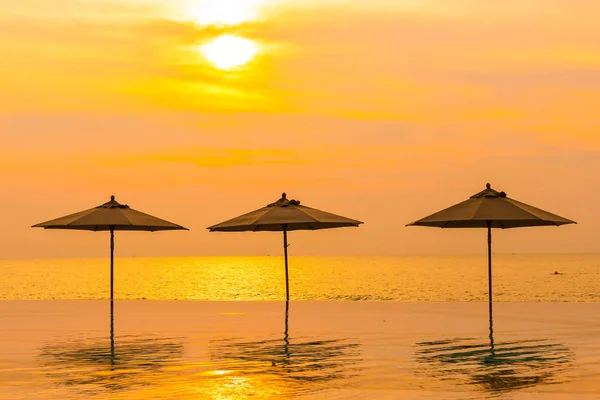
[[[281,199],[266,207],[208,227],[210,232],[283,231],[285,256],[285,295],[290,299],[287,262],[287,232],[358,226],[361,221],[331,214],[300,205],[298,200],[288,200],[285,193]]]

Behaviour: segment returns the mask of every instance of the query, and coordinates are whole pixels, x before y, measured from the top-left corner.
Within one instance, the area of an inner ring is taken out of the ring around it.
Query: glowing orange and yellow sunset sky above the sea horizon
[[[209,233],[285,191],[359,219],[290,254],[484,253],[404,225],[482,190],[578,225],[497,252],[600,248],[600,4],[589,0],[4,0],[0,258],[107,255],[31,225],[109,200],[190,232],[117,256],[279,255]]]

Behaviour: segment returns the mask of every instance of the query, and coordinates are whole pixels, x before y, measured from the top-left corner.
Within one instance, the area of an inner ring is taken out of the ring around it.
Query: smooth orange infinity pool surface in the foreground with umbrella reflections
[[[2,301],[2,399],[597,399],[598,303]]]

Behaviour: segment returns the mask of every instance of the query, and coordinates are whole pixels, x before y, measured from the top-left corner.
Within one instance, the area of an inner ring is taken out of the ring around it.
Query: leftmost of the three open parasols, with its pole
[[[110,201],[64,217],[33,225],[45,229],[78,229],[85,231],[110,231],[110,299],[113,299],[113,258],[115,249],[115,231],[166,231],[178,230],[183,226],[165,221],[152,215],[134,210],[120,204],[115,196]]]

